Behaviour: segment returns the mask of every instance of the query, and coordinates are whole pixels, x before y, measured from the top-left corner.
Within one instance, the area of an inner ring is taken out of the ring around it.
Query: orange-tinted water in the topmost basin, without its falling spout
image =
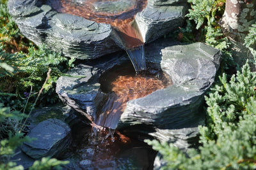
[[[116,5],[118,1],[126,6]],[[48,0],[47,4],[60,13],[117,26],[131,22],[145,8],[147,0]]]

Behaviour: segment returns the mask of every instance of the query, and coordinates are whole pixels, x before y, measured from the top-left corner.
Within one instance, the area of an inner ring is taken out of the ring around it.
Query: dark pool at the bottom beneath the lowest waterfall
[[[81,122],[72,134],[73,143],[62,155],[70,160],[65,169],[153,169],[156,152],[143,141]]]

